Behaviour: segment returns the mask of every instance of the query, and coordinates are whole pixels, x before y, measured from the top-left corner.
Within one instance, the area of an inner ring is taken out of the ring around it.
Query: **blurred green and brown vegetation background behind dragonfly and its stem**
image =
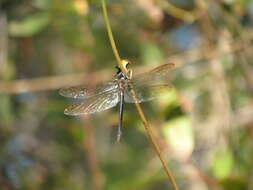
[[[253,189],[253,1],[108,0],[134,74],[173,62],[142,107],[180,189]],[[157,190],[169,182],[133,105],[70,117],[65,86],[113,77],[99,0],[0,0],[0,189]],[[172,189],[172,188],[170,188]]]

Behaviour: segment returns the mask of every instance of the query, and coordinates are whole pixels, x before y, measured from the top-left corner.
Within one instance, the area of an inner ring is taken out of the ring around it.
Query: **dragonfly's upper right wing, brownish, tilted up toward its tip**
[[[167,63],[161,66],[158,66],[154,68],[153,70],[139,74],[137,76],[134,76],[131,79],[131,83],[135,86],[135,88],[138,88],[137,86],[142,85],[158,85],[161,83],[167,83],[169,80],[169,72],[175,65],[173,63]]]

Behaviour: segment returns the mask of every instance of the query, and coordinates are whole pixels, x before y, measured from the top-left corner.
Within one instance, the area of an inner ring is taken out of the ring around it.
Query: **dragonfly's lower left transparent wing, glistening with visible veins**
[[[73,104],[64,110],[66,115],[92,114],[107,110],[117,105],[119,94],[117,90],[93,96],[81,103]]]

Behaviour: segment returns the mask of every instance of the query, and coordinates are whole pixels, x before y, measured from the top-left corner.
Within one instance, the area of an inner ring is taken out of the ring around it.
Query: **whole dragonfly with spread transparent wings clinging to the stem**
[[[122,135],[124,102],[141,103],[153,100],[171,89],[168,84],[169,71],[173,63],[160,65],[153,70],[132,76],[129,68],[130,61],[121,60],[116,67],[117,72],[110,81],[95,86],[77,86],[62,88],[59,94],[74,99],[81,99],[80,103],[73,104],[64,110],[66,115],[82,115],[101,112],[119,103],[119,122],[117,141]]]

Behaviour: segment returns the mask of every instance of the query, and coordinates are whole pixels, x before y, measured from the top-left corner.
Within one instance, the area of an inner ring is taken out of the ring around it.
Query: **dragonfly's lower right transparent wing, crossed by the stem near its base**
[[[134,103],[136,100],[138,103],[141,103],[153,100],[154,98],[168,93],[169,90],[172,89],[172,86],[168,84],[161,84],[154,86],[142,86],[138,88],[133,87],[133,89],[136,99],[133,97],[131,88],[127,88],[125,90],[125,102]]]

